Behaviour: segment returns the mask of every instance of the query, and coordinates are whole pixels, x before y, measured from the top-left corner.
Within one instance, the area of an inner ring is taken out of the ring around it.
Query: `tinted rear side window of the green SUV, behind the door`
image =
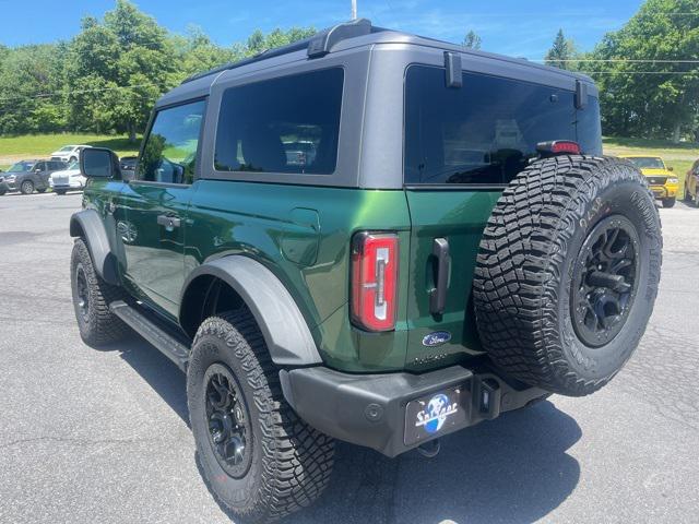
[[[337,160],[341,68],[232,87],[214,164],[222,171],[330,175]]]

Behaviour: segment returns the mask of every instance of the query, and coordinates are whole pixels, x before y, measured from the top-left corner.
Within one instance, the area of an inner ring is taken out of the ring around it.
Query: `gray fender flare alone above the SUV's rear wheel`
[[[189,284],[202,275],[221,278],[240,295],[262,331],[274,364],[308,366],[322,362],[294,298],[264,265],[235,254],[206,262],[189,275],[182,287],[182,297]],[[180,319],[181,315],[180,311]]]

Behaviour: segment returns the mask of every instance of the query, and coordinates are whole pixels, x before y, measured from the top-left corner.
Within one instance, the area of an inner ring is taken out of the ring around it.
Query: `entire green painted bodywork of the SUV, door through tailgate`
[[[471,309],[478,242],[499,191],[362,190],[198,180],[192,186],[91,180],[125,287],[177,321],[194,269],[244,254],[271,270],[306,318],[324,362],[351,372],[442,367],[482,348]],[[117,204],[107,212],[108,203]],[[173,230],[159,215],[177,215]],[[396,329],[367,333],[350,321],[350,245],[362,230],[399,234]],[[433,241],[449,241],[451,275],[442,315],[429,312]],[[447,331],[451,341],[423,345]]]

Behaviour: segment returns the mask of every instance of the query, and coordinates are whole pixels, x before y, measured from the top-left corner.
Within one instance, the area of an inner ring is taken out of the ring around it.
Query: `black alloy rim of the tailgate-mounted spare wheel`
[[[570,310],[576,333],[590,347],[609,343],[624,327],[639,282],[639,238],[623,215],[600,222],[576,261]]]

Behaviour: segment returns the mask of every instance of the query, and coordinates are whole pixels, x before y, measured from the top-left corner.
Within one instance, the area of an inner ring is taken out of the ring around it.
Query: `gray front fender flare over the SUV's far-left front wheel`
[[[97,274],[108,284],[118,286],[117,259],[109,247],[105,226],[95,210],[83,210],[70,217],[70,236],[84,236]]]

